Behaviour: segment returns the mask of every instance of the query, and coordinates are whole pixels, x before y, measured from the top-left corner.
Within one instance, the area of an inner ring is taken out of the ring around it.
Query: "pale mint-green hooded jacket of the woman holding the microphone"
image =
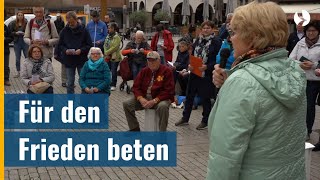
[[[209,116],[207,180],[306,179],[306,77],[287,55],[231,69]]]

